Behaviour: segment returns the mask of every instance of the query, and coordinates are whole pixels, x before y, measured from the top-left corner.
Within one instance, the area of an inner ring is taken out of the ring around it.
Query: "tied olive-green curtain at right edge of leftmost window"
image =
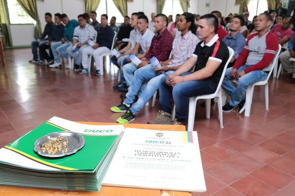
[[[41,24],[37,12],[36,0],[17,0],[22,8],[31,16],[35,21],[34,37],[37,38],[42,34]]]

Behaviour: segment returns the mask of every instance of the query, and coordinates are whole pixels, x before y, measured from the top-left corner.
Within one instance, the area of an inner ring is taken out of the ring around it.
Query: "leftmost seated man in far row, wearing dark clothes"
[[[44,58],[42,56],[40,56],[40,60],[38,60],[38,46],[47,43],[48,38],[51,37],[52,28],[55,26],[54,22],[52,22],[52,15],[48,12],[45,13],[45,21],[47,24],[45,25],[42,35],[31,42],[33,59],[29,60],[30,63],[44,64]],[[47,38],[45,38],[46,36]]]

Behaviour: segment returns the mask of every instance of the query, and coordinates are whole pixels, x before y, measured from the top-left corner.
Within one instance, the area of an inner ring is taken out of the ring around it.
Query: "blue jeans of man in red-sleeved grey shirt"
[[[239,73],[240,71],[250,66],[251,65],[240,66],[237,72]],[[239,78],[238,83],[236,84],[236,87],[235,87],[231,82],[233,78],[229,76],[229,72],[231,70],[232,70],[232,67],[227,69],[225,78],[222,83],[222,87],[230,96],[229,105],[231,107],[234,107],[238,105],[245,98],[245,93],[247,91],[248,86],[251,84],[257,83],[259,81],[264,81],[267,78],[267,73],[265,73],[262,70],[251,71],[247,73],[246,75],[242,76],[241,78]]]

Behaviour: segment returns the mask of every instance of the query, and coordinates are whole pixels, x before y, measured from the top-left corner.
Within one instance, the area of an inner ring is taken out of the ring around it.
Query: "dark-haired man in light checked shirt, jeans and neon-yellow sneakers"
[[[159,30],[161,27],[159,19],[160,17],[156,16],[156,30]],[[163,28],[164,30],[159,32],[160,35],[163,35],[164,31],[169,32],[165,26]],[[122,117],[117,119],[118,123],[129,123],[135,119],[135,113],[143,109],[145,104],[151,99],[155,91],[159,88],[159,81],[161,78],[165,77],[164,74],[161,74],[161,71],[164,71],[167,75],[170,75],[175,70],[177,70],[177,68],[180,67],[180,65],[184,63],[188,57],[192,56],[196,45],[199,42],[199,39],[195,35],[197,29],[195,25],[195,16],[188,12],[183,13],[177,22],[177,28],[179,31],[181,31],[181,35],[176,37],[173,41],[172,53],[174,55],[172,55],[168,60],[161,62],[161,69],[153,68],[152,66],[147,65],[135,71],[133,81],[128,93],[126,94],[126,100],[118,107],[111,108],[111,111],[113,112],[127,111]],[[141,85],[145,80],[149,79],[151,80],[147,83],[146,88],[139,95],[137,102],[132,104],[134,97],[136,94],[138,94]]]

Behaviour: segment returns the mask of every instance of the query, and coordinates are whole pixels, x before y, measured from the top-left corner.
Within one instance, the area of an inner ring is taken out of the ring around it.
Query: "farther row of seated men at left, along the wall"
[[[84,56],[85,54],[94,52],[94,50],[90,48],[99,48],[96,54],[99,54],[99,52],[110,52],[114,32],[118,35],[116,40],[117,46],[124,47],[124,45],[127,45],[127,43],[122,40],[124,38],[129,38],[132,30],[130,18],[128,16],[125,16],[124,23],[120,27],[117,27],[115,25],[115,17],[111,18],[110,26],[108,26],[108,16],[106,14],[101,15],[100,23],[96,20],[97,13],[95,11],[92,11],[90,15],[92,22],[88,24],[89,16],[86,13],[79,15],[78,21],[69,20],[66,14],[56,13],[54,17],[55,23],[53,23],[52,15],[46,13],[45,21],[47,24],[42,35],[32,42],[33,59],[29,62],[45,64],[46,60],[47,66],[55,68],[61,66],[59,54],[63,56],[66,61],[68,61],[69,54],[75,59],[77,65],[76,70],[79,71],[79,67],[83,61],[82,50],[84,48],[88,47],[88,50],[85,50]],[[94,40],[96,37],[97,39]],[[96,41],[95,46],[90,47],[88,44],[89,40]],[[37,48],[39,48],[40,59],[38,59]],[[50,55],[48,55],[46,49],[49,49]],[[97,55],[95,55],[95,57],[96,56]],[[87,59],[84,59],[84,61],[85,60]],[[87,70],[86,64],[87,63],[84,62],[85,70]],[[66,67],[68,68],[68,65]],[[95,72],[95,75],[99,75],[99,66],[97,67],[98,70]]]

